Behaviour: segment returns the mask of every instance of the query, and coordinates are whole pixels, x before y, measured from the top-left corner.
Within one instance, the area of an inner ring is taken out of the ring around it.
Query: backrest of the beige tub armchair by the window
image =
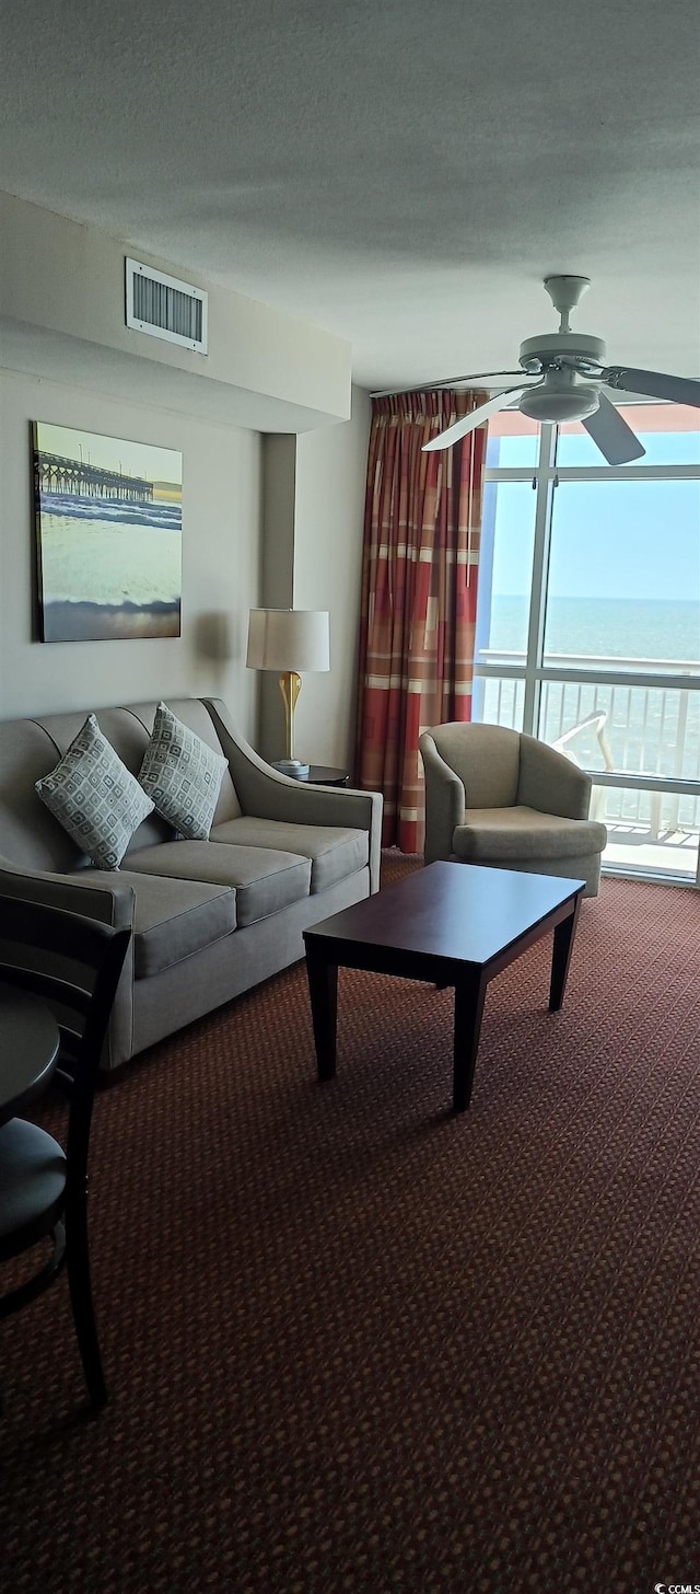
[[[512,808],[520,773],[520,732],[453,720],[434,725],[441,759],[460,776],[468,808]]]

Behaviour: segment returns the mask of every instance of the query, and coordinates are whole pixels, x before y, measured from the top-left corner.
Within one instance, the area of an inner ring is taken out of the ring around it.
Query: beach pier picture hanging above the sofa
[[[41,642],[180,636],[183,456],[32,422]]]

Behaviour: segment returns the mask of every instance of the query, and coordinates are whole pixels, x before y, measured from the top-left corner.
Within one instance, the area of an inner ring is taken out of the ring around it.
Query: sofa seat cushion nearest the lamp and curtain
[[[272,846],[301,853],[312,861],[312,896],[337,880],[347,880],[369,862],[368,830],[329,824],[285,824],[282,819],[229,819],[212,830],[210,842],[237,846]]]

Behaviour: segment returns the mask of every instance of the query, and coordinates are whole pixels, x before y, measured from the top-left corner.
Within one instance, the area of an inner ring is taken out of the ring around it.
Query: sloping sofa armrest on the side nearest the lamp
[[[369,832],[369,889],[379,891],[382,856],[380,792],[348,791],[347,786],[312,786],[274,770],[235,730],[229,711],[218,698],[202,698],[224,757],[229,760],[243,813],[256,819],[286,824],[337,824]]]

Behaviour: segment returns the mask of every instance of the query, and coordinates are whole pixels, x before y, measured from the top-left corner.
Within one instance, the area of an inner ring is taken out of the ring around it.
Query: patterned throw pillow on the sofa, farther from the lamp
[[[134,830],[153,813],[94,714],[33,789],[97,869],[119,869]]]

